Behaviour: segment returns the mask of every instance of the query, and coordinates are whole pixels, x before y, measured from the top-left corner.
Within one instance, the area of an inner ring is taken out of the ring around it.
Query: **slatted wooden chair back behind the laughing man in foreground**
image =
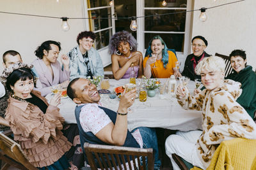
[[[99,162],[99,167],[102,170],[108,168],[112,169],[112,167],[114,169],[119,168],[126,170],[126,166],[122,168],[122,164],[125,165],[125,158],[127,159],[129,169],[154,169],[154,157],[152,148],[141,149],[124,146],[95,145],[90,143],[84,143],[84,150],[88,159],[88,163],[92,170],[97,169],[97,163],[95,162],[95,159],[97,159],[97,162]],[[136,162],[138,162],[138,164],[140,165],[140,157],[143,166],[136,167]],[[145,161],[146,157],[147,165]]]

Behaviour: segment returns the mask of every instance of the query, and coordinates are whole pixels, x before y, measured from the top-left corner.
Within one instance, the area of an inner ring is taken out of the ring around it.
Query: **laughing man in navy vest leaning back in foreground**
[[[117,113],[100,106],[97,88],[89,80],[75,78],[67,88],[68,96],[77,104],[76,120],[79,127],[81,146],[85,142],[100,145],[153,148],[154,169],[159,169],[156,131],[148,127],[127,130],[127,110],[134,103],[136,90],[124,92]]]

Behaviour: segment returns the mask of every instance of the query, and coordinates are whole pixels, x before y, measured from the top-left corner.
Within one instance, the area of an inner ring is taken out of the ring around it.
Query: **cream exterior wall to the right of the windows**
[[[233,0],[195,0],[195,9],[234,2]],[[206,10],[207,20],[200,22],[200,11],[194,12],[192,38],[204,36],[208,41],[206,52],[229,55],[234,49],[246,51],[248,64],[256,67],[256,1],[246,0]]]

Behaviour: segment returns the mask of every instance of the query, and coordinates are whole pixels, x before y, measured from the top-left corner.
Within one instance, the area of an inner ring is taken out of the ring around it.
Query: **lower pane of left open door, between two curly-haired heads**
[[[108,29],[105,31],[97,32],[96,38],[95,38],[95,45],[96,49],[99,50],[100,48],[103,48],[104,46],[108,46],[109,39],[112,36],[112,29]]]

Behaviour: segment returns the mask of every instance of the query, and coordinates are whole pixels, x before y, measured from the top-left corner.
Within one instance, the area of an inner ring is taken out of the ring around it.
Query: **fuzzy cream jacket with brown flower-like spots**
[[[256,139],[256,124],[244,108],[236,102],[241,95],[241,83],[225,80],[222,87],[204,89],[196,96],[186,96],[178,102],[182,108],[202,110],[202,135],[197,153],[205,169],[221,141],[234,138]]]

